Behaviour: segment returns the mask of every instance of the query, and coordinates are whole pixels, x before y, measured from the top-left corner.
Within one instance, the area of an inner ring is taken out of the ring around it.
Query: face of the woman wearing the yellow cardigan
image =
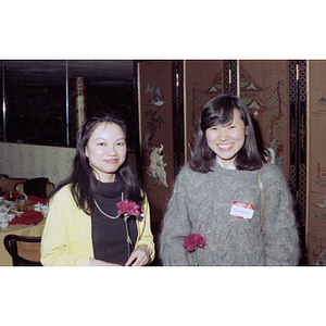
[[[85,148],[95,177],[102,183],[113,183],[115,173],[125,162],[127,145],[121,126],[114,123],[99,123]]]

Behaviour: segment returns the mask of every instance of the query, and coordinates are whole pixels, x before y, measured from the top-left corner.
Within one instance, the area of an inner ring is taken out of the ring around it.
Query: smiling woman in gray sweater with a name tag
[[[204,238],[204,246],[184,247],[190,234]],[[251,116],[239,98],[221,96],[204,105],[192,160],[177,176],[164,216],[160,253],[163,265],[298,264],[287,181],[276,165],[263,164]]]

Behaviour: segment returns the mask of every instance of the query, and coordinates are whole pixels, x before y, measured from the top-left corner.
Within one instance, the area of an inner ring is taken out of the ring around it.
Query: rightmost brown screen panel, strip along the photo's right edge
[[[310,61],[306,249],[314,265],[326,249],[326,61]]]

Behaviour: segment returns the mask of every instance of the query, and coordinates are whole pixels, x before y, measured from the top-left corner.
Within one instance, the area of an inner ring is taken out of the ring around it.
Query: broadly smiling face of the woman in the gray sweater
[[[234,118],[226,125],[215,125],[206,129],[205,136],[210,149],[220,158],[224,167],[235,163],[241,150],[248,127],[240,117],[240,112],[234,109]]]

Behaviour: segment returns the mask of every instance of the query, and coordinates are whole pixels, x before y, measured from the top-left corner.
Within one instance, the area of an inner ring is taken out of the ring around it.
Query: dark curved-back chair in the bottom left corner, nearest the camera
[[[12,256],[13,266],[42,266],[40,263],[41,237],[8,235],[3,239]]]

